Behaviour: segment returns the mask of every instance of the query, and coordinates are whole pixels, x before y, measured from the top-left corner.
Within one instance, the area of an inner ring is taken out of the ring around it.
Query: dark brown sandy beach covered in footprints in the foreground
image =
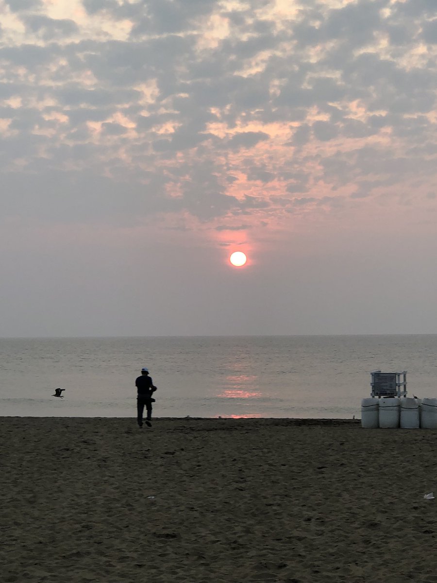
[[[437,581],[437,432],[2,417],[0,581]]]

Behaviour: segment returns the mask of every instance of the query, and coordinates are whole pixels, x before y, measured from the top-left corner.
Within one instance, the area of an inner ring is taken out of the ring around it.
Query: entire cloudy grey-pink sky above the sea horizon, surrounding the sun
[[[0,336],[437,333],[435,0],[0,23]]]

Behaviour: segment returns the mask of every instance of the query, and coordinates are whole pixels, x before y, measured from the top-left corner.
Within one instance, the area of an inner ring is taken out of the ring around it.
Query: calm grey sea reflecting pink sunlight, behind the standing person
[[[0,353],[2,416],[135,416],[142,366],[156,417],[360,417],[373,370],[437,397],[437,335],[0,339]]]

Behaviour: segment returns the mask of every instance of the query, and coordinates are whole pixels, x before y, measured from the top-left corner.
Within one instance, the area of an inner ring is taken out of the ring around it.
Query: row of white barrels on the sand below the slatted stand
[[[366,429],[437,429],[437,399],[362,399],[361,426]]]

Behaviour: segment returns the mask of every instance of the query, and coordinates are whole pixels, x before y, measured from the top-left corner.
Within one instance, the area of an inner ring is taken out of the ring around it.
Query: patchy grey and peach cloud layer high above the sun
[[[269,229],[294,194],[434,191],[434,0],[82,5],[9,1],[2,23],[2,183],[49,215],[115,220],[127,192],[143,217]]]

